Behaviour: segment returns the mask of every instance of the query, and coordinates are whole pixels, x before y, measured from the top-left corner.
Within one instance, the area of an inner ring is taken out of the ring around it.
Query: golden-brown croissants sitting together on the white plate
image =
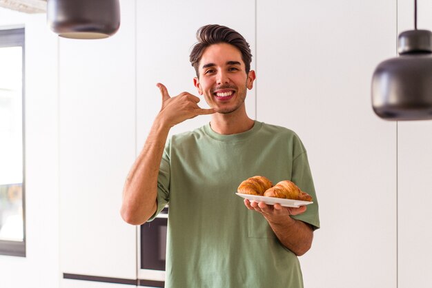
[[[300,190],[293,182],[284,180],[273,186],[264,176],[253,176],[240,183],[237,188],[240,194],[251,194],[266,197],[286,198],[293,200],[311,201],[311,195]]]

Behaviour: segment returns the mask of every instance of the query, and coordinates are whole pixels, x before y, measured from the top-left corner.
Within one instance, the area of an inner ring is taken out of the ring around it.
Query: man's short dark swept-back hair
[[[201,60],[204,50],[210,45],[217,43],[228,43],[235,46],[242,53],[242,60],[245,65],[246,74],[251,70],[252,53],[249,43],[239,34],[239,32],[226,26],[211,24],[202,26],[197,30],[197,40],[189,55],[190,64],[195,68],[199,76],[199,61]]]

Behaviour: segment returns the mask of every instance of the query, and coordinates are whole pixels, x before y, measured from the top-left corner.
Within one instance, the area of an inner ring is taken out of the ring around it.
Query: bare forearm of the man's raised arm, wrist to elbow
[[[121,217],[141,225],[157,207],[157,176],[170,127],[156,119],[141,153],[132,165],[123,190]]]

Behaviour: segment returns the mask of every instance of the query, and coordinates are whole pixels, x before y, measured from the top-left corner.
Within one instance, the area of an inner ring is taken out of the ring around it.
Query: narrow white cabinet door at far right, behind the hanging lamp
[[[418,28],[432,30],[432,3],[418,1]],[[397,30],[414,29],[413,1],[397,1]],[[432,271],[432,121],[398,123],[399,287],[429,288]]]

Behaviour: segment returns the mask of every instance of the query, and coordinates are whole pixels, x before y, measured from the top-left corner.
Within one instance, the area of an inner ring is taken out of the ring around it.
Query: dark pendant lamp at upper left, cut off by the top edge
[[[61,37],[102,39],[120,27],[119,0],[48,0],[47,21]]]

